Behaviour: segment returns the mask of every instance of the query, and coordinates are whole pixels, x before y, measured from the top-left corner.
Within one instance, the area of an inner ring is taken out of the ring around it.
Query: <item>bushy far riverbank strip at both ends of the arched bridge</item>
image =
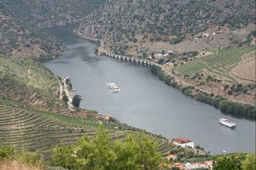
[[[91,41],[100,42],[99,45],[99,52],[109,53],[106,50],[104,50],[104,41],[101,39],[95,39],[95,38],[88,38],[86,36],[83,36],[80,32],[75,32],[79,37],[84,39],[89,39]],[[110,53],[111,55],[115,55],[113,53]],[[125,56],[123,56],[125,57]],[[128,56],[127,56],[128,57]],[[156,62],[148,61],[154,64],[155,71],[151,71],[153,74],[156,74],[159,76],[160,80],[163,80],[167,85],[172,85],[172,87],[175,87],[182,91],[183,94],[186,94],[186,96],[193,97],[194,99],[204,102],[206,104],[210,104],[214,106],[215,108],[219,108],[222,113],[226,113],[229,115],[233,115],[235,117],[243,117],[248,118],[250,120],[255,120],[256,113],[255,113],[255,105],[252,104],[246,104],[241,101],[236,101],[234,99],[229,99],[224,96],[220,96],[218,94],[212,94],[210,92],[207,92],[206,90],[202,90],[198,87],[194,87],[193,85],[189,85],[188,83],[177,79],[177,77],[172,74],[170,71],[164,69],[163,66],[157,64]]]

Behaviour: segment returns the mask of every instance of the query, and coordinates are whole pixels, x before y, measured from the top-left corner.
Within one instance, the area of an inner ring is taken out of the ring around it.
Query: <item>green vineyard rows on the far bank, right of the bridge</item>
[[[227,81],[236,81],[230,76],[230,71],[241,60],[244,53],[252,51],[255,47],[238,47],[218,50],[213,55],[194,59],[187,64],[182,64],[173,71],[179,74],[193,75],[195,73],[204,73],[209,71],[218,78]]]

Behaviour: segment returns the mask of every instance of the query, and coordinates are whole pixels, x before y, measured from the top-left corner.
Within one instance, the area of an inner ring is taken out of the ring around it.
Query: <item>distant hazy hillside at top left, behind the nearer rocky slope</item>
[[[106,0],[1,0],[0,11],[6,11],[38,27],[80,22]]]

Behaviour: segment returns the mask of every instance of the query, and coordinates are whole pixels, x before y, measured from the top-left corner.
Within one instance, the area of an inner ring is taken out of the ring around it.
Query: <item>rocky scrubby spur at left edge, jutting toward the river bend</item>
[[[45,32],[0,12],[0,52],[19,58],[60,55],[63,46]]]

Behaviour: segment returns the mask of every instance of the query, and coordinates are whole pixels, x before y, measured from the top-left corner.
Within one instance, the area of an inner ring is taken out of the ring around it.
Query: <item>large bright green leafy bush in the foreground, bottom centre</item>
[[[156,148],[144,134],[129,135],[111,145],[100,127],[93,139],[83,136],[75,145],[54,148],[51,164],[68,169],[157,169],[163,159]]]

